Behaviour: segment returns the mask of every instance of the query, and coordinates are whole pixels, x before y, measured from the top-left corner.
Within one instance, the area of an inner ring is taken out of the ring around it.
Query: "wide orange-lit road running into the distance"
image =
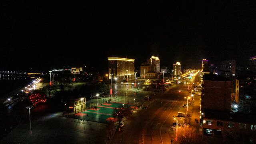
[[[175,138],[175,132],[170,128],[174,121],[172,116],[186,111],[182,108],[186,103],[184,96],[188,96],[184,82],[157,95],[147,109],[137,111],[132,120],[125,122],[123,132],[116,132],[111,144],[170,144]]]

